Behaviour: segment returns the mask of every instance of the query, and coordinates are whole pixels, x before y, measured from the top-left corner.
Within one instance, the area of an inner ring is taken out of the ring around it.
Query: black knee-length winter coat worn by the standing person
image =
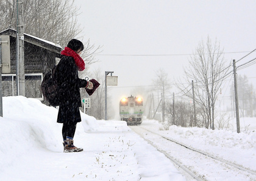
[[[73,57],[63,55],[56,71],[56,79],[60,87],[60,107],[57,122],[80,122],[79,107],[82,106],[80,88],[86,87],[87,80],[79,79]]]

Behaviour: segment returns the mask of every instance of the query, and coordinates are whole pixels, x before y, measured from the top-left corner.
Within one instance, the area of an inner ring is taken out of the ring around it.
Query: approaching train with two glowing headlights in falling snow
[[[121,121],[126,121],[127,125],[141,124],[143,112],[144,107],[142,98],[134,98],[133,96],[130,96],[120,100],[119,114]]]

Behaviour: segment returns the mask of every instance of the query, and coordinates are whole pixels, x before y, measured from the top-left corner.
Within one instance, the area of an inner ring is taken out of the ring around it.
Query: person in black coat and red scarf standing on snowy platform
[[[61,52],[62,59],[56,68],[56,80],[60,87],[59,113],[57,122],[63,123],[62,137],[64,152],[80,152],[82,148],[74,146],[74,133],[77,122],[81,122],[79,107],[82,107],[80,88],[93,89],[93,83],[79,79],[78,71],[85,69],[85,62],[80,57],[84,44],[76,39],[70,40]]]

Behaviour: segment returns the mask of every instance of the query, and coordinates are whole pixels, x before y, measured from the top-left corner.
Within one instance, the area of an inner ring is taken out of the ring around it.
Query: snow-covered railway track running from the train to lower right
[[[256,171],[199,151],[142,126],[130,128],[165,154],[187,180],[256,180]]]

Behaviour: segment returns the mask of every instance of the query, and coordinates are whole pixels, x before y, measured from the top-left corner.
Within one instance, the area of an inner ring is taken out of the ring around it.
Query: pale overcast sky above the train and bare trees
[[[160,68],[172,82],[183,76],[190,54],[207,37],[220,42],[230,63],[256,48],[256,1],[76,0],[76,4],[84,40],[102,46],[96,55],[99,62],[90,70],[114,71],[119,88],[113,89],[124,96],[130,94],[129,88],[121,87],[152,85]],[[240,63],[255,57],[256,53]],[[256,77],[255,68],[238,73]]]

